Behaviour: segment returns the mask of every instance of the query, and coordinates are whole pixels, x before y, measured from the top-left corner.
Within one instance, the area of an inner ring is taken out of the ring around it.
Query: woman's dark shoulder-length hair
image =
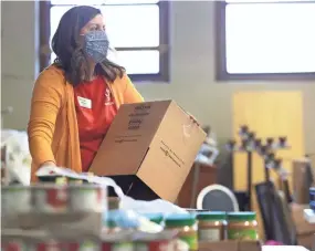
[[[84,44],[80,40],[80,31],[97,14],[102,14],[101,10],[88,6],[70,9],[61,18],[52,39],[52,50],[56,54],[54,64],[65,72],[66,81],[74,86],[90,77],[91,70],[83,51]],[[109,82],[114,82],[117,76],[122,77],[124,73],[124,67],[107,59],[95,66],[95,74],[105,76]]]

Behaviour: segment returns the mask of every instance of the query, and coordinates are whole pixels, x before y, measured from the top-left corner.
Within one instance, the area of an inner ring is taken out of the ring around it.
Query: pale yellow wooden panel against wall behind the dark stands
[[[233,135],[238,137],[240,125],[248,125],[258,137],[287,136],[291,149],[277,151],[284,159],[284,166],[291,171],[292,158],[300,158],[304,153],[303,132],[303,95],[301,92],[240,92],[233,96]],[[277,179],[275,174],[271,176]],[[260,156],[253,156],[253,184],[264,181],[263,161]],[[292,182],[291,182],[292,184]],[[246,189],[246,156],[234,156],[234,187]],[[254,190],[252,205],[258,210]],[[259,213],[259,223],[262,221]],[[261,228],[261,234],[263,230]]]

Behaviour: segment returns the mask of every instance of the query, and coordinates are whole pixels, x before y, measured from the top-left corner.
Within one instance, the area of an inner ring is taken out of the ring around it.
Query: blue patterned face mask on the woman
[[[95,63],[103,62],[107,56],[109,46],[108,38],[105,31],[90,31],[85,35],[85,52]]]

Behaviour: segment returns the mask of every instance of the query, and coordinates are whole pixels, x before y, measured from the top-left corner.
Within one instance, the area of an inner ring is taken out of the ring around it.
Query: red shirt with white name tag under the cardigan
[[[117,108],[103,77],[74,87],[82,171],[87,171]]]

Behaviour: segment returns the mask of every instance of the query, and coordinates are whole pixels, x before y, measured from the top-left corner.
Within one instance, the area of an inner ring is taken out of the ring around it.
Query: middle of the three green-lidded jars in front
[[[199,241],[221,241],[225,238],[227,213],[220,211],[199,212],[198,239]]]

